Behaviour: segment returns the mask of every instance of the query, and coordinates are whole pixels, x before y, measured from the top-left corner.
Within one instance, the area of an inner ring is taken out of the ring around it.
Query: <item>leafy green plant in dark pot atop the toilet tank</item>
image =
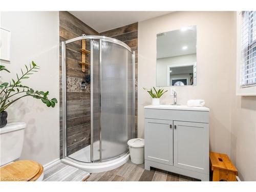
[[[34,91],[28,86],[22,84],[23,79],[28,79],[30,75],[37,72],[40,67],[36,65],[34,61],[29,66],[25,65],[25,70],[21,69],[22,74],[16,74],[14,79],[11,79],[10,82],[0,83],[0,128],[4,127],[7,124],[7,111],[5,111],[12,103],[23,97],[33,97],[35,99],[40,99],[48,107],[52,106],[54,108],[57,103],[56,98],[48,99],[49,91]],[[0,71],[6,71],[10,73],[5,66],[0,66]]]

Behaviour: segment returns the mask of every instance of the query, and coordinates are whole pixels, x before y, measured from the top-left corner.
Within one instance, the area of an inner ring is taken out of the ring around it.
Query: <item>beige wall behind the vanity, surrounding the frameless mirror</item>
[[[177,102],[204,99],[210,108],[210,150],[230,155],[230,67],[235,49],[232,12],[174,12],[139,22],[138,28],[138,136],[144,137],[143,106],[151,103],[143,87],[156,86],[156,34],[197,26],[197,86],[176,87]],[[150,78],[148,78],[150,77]],[[161,103],[173,102],[170,88]]]

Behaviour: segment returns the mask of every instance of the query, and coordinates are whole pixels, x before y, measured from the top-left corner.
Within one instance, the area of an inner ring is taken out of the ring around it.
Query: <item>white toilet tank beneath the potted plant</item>
[[[12,162],[22,154],[26,123],[8,123],[0,128],[0,166]]]

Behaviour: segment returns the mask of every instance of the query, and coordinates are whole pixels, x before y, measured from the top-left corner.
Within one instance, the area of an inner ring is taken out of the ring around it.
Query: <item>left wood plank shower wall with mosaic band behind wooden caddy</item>
[[[60,41],[60,158],[62,158],[62,83],[61,83],[61,41],[86,35],[99,35],[97,31],[84,24],[67,11],[59,12]],[[81,41],[67,45],[67,155],[70,155],[90,144],[90,87],[81,90],[79,82],[88,74],[81,71]],[[87,43],[90,50],[90,42]],[[87,55],[90,63],[90,54]]]

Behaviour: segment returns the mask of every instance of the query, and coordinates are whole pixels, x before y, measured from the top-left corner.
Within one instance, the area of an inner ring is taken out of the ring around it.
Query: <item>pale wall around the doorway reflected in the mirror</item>
[[[197,54],[188,54],[157,59],[157,86],[167,86],[167,66],[180,65],[192,62],[197,62]]]

